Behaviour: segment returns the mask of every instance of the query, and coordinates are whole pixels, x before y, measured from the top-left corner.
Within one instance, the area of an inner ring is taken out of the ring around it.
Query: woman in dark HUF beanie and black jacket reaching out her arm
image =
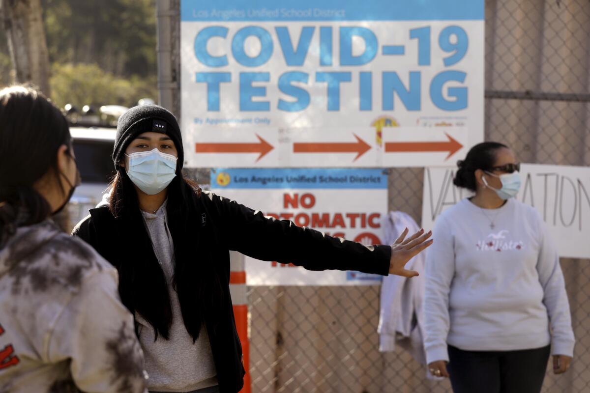
[[[310,270],[415,276],[424,231],[392,247],[363,246],[264,217],[182,176],[176,118],[157,105],[119,120],[109,204],[74,229],[119,270],[135,314],[152,392],[240,391],[245,374],[230,298],[230,250]]]

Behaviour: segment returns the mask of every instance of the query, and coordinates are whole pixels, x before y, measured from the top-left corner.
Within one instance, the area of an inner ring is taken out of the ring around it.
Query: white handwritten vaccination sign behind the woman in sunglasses
[[[535,207],[549,227],[559,256],[590,257],[590,169],[523,164],[517,199]],[[431,229],[439,214],[469,196],[453,185],[454,170],[424,172],[422,226]]]

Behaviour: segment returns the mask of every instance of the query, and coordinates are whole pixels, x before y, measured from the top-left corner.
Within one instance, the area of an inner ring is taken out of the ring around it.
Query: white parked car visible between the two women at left
[[[116,129],[70,127],[70,134],[82,181],[68,205],[68,225],[64,228],[68,232],[100,203],[109,187],[115,173],[111,157]]]

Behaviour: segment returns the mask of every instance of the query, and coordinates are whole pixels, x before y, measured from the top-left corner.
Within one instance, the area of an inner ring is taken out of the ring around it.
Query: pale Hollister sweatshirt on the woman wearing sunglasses
[[[491,222],[495,224],[491,229]],[[574,338],[559,256],[537,211],[510,199],[480,209],[468,199],[438,217],[426,262],[427,362],[464,351],[546,346],[573,355]]]

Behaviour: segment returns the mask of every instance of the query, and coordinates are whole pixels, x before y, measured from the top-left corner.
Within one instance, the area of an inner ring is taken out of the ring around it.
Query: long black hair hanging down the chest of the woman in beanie
[[[126,251],[117,263],[119,292],[124,305],[138,312],[152,325],[155,336],[169,339],[172,306],[162,267],[153,252],[143,222],[137,191],[124,168],[119,167],[111,183],[110,211],[119,224]],[[220,320],[223,304],[221,276],[209,252],[212,233],[201,220],[201,189],[193,181],[177,176],[168,186],[166,214],[174,243],[173,289],[181,303],[186,330],[196,340],[202,323],[212,326]]]

